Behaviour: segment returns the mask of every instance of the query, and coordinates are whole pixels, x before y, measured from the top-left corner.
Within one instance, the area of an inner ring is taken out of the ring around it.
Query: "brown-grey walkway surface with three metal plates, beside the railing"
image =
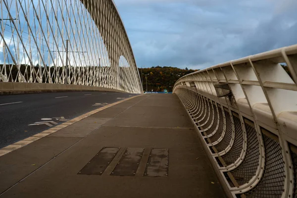
[[[142,95],[0,157],[0,198],[224,198],[177,96]]]

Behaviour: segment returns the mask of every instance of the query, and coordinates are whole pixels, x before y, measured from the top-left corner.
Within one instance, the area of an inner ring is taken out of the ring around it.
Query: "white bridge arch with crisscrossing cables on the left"
[[[0,90],[17,87],[142,93],[113,0],[1,0]]]

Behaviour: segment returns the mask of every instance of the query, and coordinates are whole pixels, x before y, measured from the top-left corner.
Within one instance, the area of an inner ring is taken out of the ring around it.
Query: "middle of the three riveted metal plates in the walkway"
[[[127,148],[111,175],[134,176],[141,161],[144,148]]]

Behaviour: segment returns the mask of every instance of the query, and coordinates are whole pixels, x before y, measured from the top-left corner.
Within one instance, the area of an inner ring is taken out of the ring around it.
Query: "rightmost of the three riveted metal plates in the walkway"
[[[168,177],[169,149],[151,148],[145,175],[150,177]]]

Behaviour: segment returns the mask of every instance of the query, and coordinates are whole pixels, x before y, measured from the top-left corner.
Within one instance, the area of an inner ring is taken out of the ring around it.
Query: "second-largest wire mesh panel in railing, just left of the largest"
[[[259,141],[254,126],[245,123],[247,131],[247,152],[244,161],[236,169],[230,171],[239,185],[246,184],[253,176],[259,166]]]

